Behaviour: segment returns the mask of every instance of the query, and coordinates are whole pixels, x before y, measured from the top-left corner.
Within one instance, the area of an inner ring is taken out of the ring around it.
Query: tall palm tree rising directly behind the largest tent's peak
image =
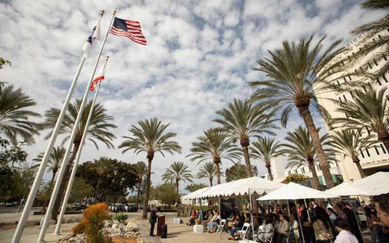
[[[250,137],[257,136],[260,133],[274,134],[269,130],[278,128],[273,124],[273,121],[276,121],[272,120],[274,113],[266,114],[265,109],[252,108],[248,100],[234,99],[233,103],[228,104],[227,107],[216,111],[216,114],[222,116],[224,120],[215,119],[213,121],[221,124],[232,139],[240,140],[245,156],[247,174],[248,177],[251,177],[250,157],[248,155]]]

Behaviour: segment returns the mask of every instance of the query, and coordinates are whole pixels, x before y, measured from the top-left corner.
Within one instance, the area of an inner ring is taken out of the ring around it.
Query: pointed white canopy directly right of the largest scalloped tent
[[[257,200],[283,200],[283,199],[304,199],[304,198],[332,198],[335,195],[328,194],[323,191],[318,191],[309,187],[301,186],[293,182],[289,182],[288,185],[272,191],[267,195],[258,198]]]

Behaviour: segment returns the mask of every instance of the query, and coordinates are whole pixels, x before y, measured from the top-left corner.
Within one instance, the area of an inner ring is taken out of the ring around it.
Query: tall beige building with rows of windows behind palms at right
[[[381,38],[381,35],[383,35],[383,33],[374,36],[373,39]],[[346,45],[346,48],[348,50],[338,55],[334,61],[338,61],[339,59],[352,56],[354,53],[359,51],[359,49],[362,47],[363,43],[366,42],[366,40],[367,40],[366,35],[357,36]],[[384,57],[380,62],[374,60],[372,63],[368,65],[369,71],[374,72],[375,70],[379,69],[381,66],[384,65],[385,62],[387,62],[387,58],[389,58],[389,56]],[[363,65],[365,62],[366,62],[365,60],[362,60],[360,63],[357,63],[353,69],[349,70],[349,72],[353,72],[354,70],[359,69],[359,66]],[[340,76],[340,74],[338,74],[338,76]],[[334,76],[332,76],[332,78],[334,78]],[[333,82],[333,84],[339,85],[342,84],[343,82],[348,82],[353,78],[356,77],[349,76],[348,78],[341,78],[341,79],[339,78],[338,80]],[[373,83],[373,87],[376,87],[377,89],[382,87],[387,87],[389,85],[388,83],[389,75],[385,75],[384,77],[381,77],[380,79],[375,80],[374,82],[372,82],[372,80],[368,80],[367,78],[361,78],[361,80],[365,81],[366,83],[368,82]],[[326,99],[320,99],[320,98],[323,97],[332,98],[332,99],[339,100],[340,102],[353,100],[353,93],[338,94],[336,92],[327,92],[324,94],[318,94],[317,96],[318,96],[318,103],[323,107],[325,107],[333,118],[345,117],[345,114],[337,112],[336,111],[337,107],[332,101]],[[329,134],[331,135],[333,131],[329,129],[328,124],[326,124],[326,126]],[[351,182],[351,181],[359,180],[361,178],[351,158],[349,157],[343,158],[343,156],[337,155],[336,159],[338,161],[339,168],[345,182]],[[377,171],[389,171],[389,153],[388,151],[386,151],[382,143],[377,144],[377,147],[375,148],[364,149],[363,151],[361,151],[361,156],[359,156],[359,159],[361,160],[360,163],[366,175],[373,174]]]

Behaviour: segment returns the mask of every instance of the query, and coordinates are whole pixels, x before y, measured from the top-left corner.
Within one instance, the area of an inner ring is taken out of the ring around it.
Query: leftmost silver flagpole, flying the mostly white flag
[[[101,11],[99,19],[103,16],[103,14],[104,14],[104,10]],[[35,176],[35,179],[34,179],[34,183],[33,183],[32,187],[31,187],[31,190],[30,190],[30,192],[28,194],[26,204],[24,205],[23,212],[20,215],[18,226],[16,227],[14,236],[12,238],[12,243],[20,242],[20,238],[21,238],[21,235],[23,233],[24,225],[27,222],[27,218],[28,218],[28,215],[30,213],[31,207],[33,206],[33,203],[34,203],[34,200],[35,200],[35,196],[36,196],[36,192],[39,189],[40,182],[42,180],[43,174],[45,173],[47,162],[49,161],[49,157],[50,157],[50,154],[52,152],[55,139],[57,138],[57,135],[58,135],[59,129],[61,127],[62,121],[64,119],[65,113],[66,113],[66,111],[68,109],[68,105],[69,105],[69,102],[70,102],[70,99],[71,99],[71,95],[73,94],[74,87],[77,84],[78,77],[80,76],[81,69],[84,66],[84,62],[85,62],[86,58],[87,58],[87,56],[86,56],[86,54],[84,52],[84,55],[83,55],[83,57],[81,59],[81,62],[78,65],[78,69],[76,71],[76,74],[75,74],[75,76],[73,78],[73,82],[71,83],[71,87],[70,87],[70,89],[68,91],[68,95],[66,96],[64,105],[62,106],[62,110],[59,113],[57,122],[55,123],[52,136],[50,137],[50,140],[49,140],[49,144],[47,145],[47,148],[46,148],[46,151],[45,151],[45,153],[43,155],[42,161],[40,162],[40,166],[39,166],[39,169],[38,169],[38,171],[36,173],[36,176]]]

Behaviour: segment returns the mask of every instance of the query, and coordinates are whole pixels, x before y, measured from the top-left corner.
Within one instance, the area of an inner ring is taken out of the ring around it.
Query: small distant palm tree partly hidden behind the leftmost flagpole
[[[59,167],[61,166],[65,152],[66,149],[64,147],[57,146],[56,148],[53,148],[50,154],[49,161],[47,163],[47,167],[49,167],[49,169],[47,170],[47,172],[53,171],[53,176],[50,180],[49,188],[53,187],[55,175],[57,174]],[[37,164],[33,165],[33,168],[37,168],[40,166],[40,162],[42,161],[43,155],[44,153],[40,153],[35,159],[33,159],[34,161],[38,162]],[[48,203],[49,201],[45,200],[45,202],[43,203],[43,210],[45,210]]]

